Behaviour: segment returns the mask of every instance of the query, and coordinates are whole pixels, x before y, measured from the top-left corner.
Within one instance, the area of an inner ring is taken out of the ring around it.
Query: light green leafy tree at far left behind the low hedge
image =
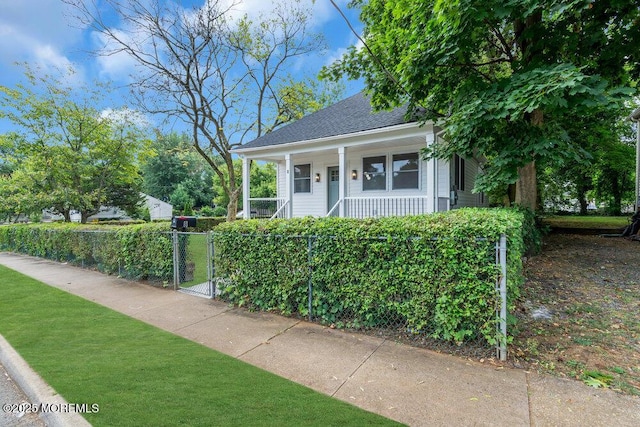
[[[30,69],[26,77],[15,89],[0,86],[0,116],[19,128],[13,170],[0,181],[1,210],[52,209],[67,221],[79,210],[82,222],[105,205],[134,212],[141,201],[138,160],[148,142],[136,115],[96,110],[106,87],[72,90]]]

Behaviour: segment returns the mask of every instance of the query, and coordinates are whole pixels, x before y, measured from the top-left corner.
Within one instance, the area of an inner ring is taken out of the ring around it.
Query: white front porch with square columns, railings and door
[[[316,149],[243,153],[244,218],[375,218],[448,210],[449,163],[424,160],[424,130]],[[252,161],[273,162],[277,197],[250,197]]]

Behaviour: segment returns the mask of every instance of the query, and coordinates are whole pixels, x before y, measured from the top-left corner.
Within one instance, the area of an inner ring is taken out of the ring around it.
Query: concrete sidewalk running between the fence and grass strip
[[[39,258],[0,253],[0,264],[408,425],[640,425],[640,399],[578,381],[249,313]]]

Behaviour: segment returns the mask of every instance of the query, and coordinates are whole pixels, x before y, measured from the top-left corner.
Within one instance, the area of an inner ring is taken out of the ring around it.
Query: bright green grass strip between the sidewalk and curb
[[[397,425],[3,266],[0,289],[0,333],[94,426]]]

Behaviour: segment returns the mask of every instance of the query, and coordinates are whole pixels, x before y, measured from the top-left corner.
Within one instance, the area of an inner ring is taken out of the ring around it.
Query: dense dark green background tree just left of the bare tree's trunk
[[[154,155],[142,166],[145,193],[168,202],[181,184],[194,207],[212,204],[212,171],[193,150],[188,135],[158,134],[152,149]]]

